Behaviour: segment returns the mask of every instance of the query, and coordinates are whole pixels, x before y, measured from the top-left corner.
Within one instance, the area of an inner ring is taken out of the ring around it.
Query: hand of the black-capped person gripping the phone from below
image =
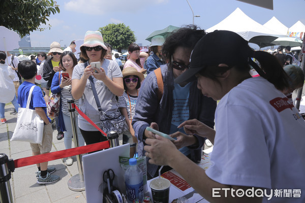
[[[146,139],[144,146],[145,156],[149,158],[148,162],[156,165],[169,165],[173,154],[179,153],[176,146],[167,138],[158,136],[156,139]]]

